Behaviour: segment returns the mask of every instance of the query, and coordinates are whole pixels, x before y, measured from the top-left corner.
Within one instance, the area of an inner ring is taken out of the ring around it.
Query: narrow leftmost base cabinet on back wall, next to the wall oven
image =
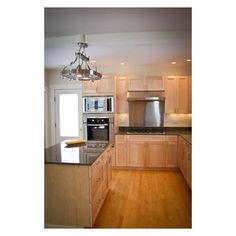
[[[127,140],[126,135],[115,136],[116,167],[127,166],[127,141],[126,140]]]

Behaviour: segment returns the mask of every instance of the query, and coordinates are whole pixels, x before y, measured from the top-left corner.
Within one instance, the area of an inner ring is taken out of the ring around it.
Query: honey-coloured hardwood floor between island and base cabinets
[[[113,170],[95,228],[191,228],[191,191],[180,172]]]

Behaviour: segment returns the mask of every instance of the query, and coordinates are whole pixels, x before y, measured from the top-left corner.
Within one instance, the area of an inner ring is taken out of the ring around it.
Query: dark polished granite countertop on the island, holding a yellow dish
[[[93,148],[87,143],[67,146],[64,141],[45,149],[45,164],[92,165],[108,146]]]

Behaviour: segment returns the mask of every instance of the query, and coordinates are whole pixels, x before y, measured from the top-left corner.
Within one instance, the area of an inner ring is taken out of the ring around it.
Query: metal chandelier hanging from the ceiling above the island
[[[85,36],[83,36],[85,38]],[[84,40],[85,41],[85,40]],[[75,59],[61,71],[63,79],[94,81],[102,78],[102,74],[90,63],[90,58],[85,53],[88,44],[85,42],[77,43],[79,49],[75,52]]]

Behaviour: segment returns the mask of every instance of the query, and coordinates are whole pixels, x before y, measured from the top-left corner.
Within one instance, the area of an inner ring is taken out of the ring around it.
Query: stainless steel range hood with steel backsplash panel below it
[[[164,91],[128,91],[129,125],[133,127],[163,127]]]

